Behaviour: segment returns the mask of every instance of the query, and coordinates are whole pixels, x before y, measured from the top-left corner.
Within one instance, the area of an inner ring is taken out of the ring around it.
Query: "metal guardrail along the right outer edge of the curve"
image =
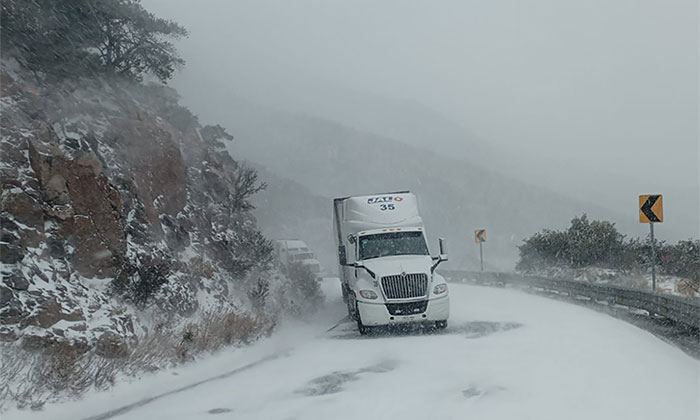
[[[521,287],[565,293],[570,297],[586,297],[608,304],[623,305],[661,315],[673,321],[700,327],[700,299],[670,296],[628,287],[599,285],[568,279],[530,277],[515,273],[489,273],[458,270],[439,270],[448,281],[484,285],[512,284]]]

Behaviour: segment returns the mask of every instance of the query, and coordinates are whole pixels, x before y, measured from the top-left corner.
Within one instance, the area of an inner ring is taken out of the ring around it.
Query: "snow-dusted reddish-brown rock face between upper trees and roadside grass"
[[[118,358],[166,324],[219,311],[267,328],[304,301],[270,269],[255,171],[174,91],[37,84],[7,60],[2,88],[2,341]]]

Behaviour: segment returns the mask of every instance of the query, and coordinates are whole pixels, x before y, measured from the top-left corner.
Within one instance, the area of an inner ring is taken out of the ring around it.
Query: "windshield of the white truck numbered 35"
[[[423,232],[396,232],[360,237],[361,260],[391,255],[428,255]]]

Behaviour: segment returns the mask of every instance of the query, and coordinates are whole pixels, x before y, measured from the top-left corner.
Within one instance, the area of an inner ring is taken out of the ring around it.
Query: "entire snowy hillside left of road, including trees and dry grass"
[[[310,271],[274,268],[250,201],[266,185],[233,136],[165,86],[186,28],[139,0],[1,8],[0,412],[250,342],[320,303]]]

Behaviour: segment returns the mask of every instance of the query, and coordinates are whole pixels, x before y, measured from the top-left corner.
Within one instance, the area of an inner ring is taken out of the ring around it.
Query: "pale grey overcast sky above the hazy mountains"
[[[673,236],[700,235],[697,1],[143,3],[190,30],[186,101],[206,79],[345,123],[347,92],[421,104],[504,151],[500,171],[629,218],[661,192]]]

